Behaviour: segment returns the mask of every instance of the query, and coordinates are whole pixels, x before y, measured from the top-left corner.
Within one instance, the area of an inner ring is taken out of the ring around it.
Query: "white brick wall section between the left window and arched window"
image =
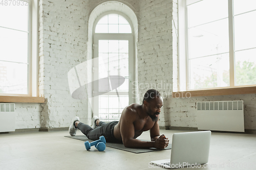
[[[87,123],[87,100],[71,98],[68,71],[87,60],[88,1],[40,1],[39,89],[41,128],[68,127],[73,116]]]

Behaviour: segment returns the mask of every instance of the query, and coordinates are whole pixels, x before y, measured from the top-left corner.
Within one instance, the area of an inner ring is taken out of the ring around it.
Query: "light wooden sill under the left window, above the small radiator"
[[[0,95],[3,103],[45,103],[44,97]]]

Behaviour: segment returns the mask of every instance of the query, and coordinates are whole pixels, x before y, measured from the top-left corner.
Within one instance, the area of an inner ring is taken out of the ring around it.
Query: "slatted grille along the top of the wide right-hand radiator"
[[[197,102],[197,110],[243,110],[243,101]]]

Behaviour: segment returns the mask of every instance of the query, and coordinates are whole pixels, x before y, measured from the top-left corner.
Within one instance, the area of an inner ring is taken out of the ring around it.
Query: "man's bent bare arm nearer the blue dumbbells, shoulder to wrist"
[[[122,114],[120,124],[120,132],[123,140],[123,145],[126,148],[155,148],[154,141],[141,141],[134,139],[135,129],[134,122],[137,114],[130,108],[126,108],[125,113]]]

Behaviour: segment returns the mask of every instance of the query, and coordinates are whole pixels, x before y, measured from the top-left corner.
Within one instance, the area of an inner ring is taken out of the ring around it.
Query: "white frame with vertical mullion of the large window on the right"
[[[233,1],[228,0],[228,30],[229,30],[229,79],[230,85],[228,87],[214,87],[214,88],[205,88],[205,89],[189,89],[189,59],[188,59],[188,29],[187,29],[187,9],[186,6],[200,2],[203,0],[179,0],[178,1],[178,85],[176,87],[178,92],[187,91],[191,92],[192,96],[204,96],[204,95],[222,95],[222,93],[218,92],[218,89],[238,89],[240,94],[248,93],[248,89],[246,87],[250,87],[252,89],[256,89],[255,85],[243,85],[243,86],[235,86],[235,70],[234,70],[234,24],[233,24]],[[249,12],[249,11],[248,11]],[[175,88],[174,88],[175,89]],[[214,93],[207,93],[207,90],[214,90]],[[197,91],[197,93],[193,93],[193,91]],[[250,93],[254,93],[255,90],[252,90]],[[206,93],[205,93],[206,92]],[[175,96],[173,93],[173,97]],[[233,92],[236,94],[236,92]],[[232,94],[232,92],[228,92],[228,94]]]

